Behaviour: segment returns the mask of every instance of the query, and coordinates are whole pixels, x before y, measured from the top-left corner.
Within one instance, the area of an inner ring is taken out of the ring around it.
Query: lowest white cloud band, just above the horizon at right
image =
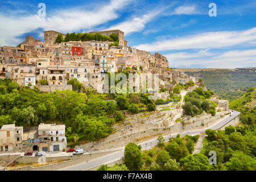
[[[195,53],[176,52],[165,55],[171,67],[243,68],[256,66],[256,49],[226,51],[201,50]]]

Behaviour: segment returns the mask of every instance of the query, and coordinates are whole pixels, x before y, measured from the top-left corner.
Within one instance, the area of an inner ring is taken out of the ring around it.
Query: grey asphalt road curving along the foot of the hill
[[[232,111],[232,110],[230,110]],[[233,110],[230,115],[226,115],[223,119],[215,123],[214,125],[200,130],[194,130],[194,131],[187,131],[184,133],[180,133],[180,137],[184,137],[185,135],[197,135],[201,132],[204,132],[207,129],[217,130],[220,129],[222,126],[226,125],[229,121],[231,121],[233,118],[237,117],[240,113],[238,111]],[[164,139],[166,141],[169,140],[169,138],[176,137],[177,134],[171,134],[164,136]],[[147,142],[139,143],[142,146],[142,150],[149,150],[151,147],[154,147],[158,144],[157,138],[148,140]],[[84,171],[86,169],[96,167],[100,164],[108,164],[110,162],[114,162],[115,160],[121,159],[123,157],[124,153],[124,147],[122,150],[114,152],[109,155],[102,156],[101,158],[97,158],[94,160],[90,160],[89,162],[84,162],[81,164],[77,164],[75,166],[69,166],[67,168],[60,169],[60,171]]]

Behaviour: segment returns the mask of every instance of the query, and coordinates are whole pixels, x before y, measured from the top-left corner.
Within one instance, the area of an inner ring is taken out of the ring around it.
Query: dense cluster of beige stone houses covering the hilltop
[[[0,47],[0,78],[11,78],[20,86],[37,85],[44,92],[72,89],[67,85],[72,78],[77,78],[83,86],[97,88],[101,73],[126,68],[158,73],[160,87],[167,89],[175,84],[196,81],[195,77],[168,68],[169,61],[160,53],[151,55],[128,46],[120,30],[86,33],[85,36],[94,35],[96,39],[90,41],[81,41],[88,40],[81,35],[78,39],[72,38],[76,35],[45,31],[44,42],[27,36],[17,47]],[[97,41],[100,37],[101,41]]]

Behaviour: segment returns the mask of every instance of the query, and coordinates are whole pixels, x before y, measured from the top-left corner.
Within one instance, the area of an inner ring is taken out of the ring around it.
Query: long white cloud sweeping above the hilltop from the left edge
[[[16,38],[26,32],[43,28],[60,32],[79,31],[93,28],[118,17],[116,11],[123,9],[129,0],[111,0],[108,4],[93,10],[65,9],[45,19],[38,15],[5,16],[0,14],[0,46],[16,46],[21,39]],[[5,25],[5,26],[3,26]]]

